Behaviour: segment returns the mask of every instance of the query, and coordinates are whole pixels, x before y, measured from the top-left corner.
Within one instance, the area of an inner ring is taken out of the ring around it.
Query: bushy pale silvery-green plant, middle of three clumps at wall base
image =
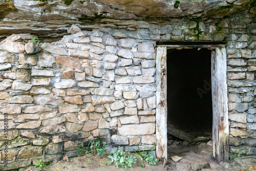
[[[122,147],[118,148],[117,151],[113,149],[110,154],[112,154],[112,156],[108,156],[108,158],[111,159],[111,161],[107,161],[105,164],[111,165],[114,163],[116,167],[120,165],[122,168],[127,168],[132,167],[132,164],[137,161],[136,156],[130,155],[126,157],[126,154],[129,155],[130,153],[122,152]]]

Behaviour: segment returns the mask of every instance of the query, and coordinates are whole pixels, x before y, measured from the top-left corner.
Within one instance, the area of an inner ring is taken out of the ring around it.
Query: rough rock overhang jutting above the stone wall
[[[143,25],[143,21],[161,24],[170,18],[223,18],[253,6],[254,0],[0,1],[0,36],[30,32],[58,37],[72,24],[84,29],[102,23],[103,27],[115,28],[112,19],[121,23],[133,20],[135,25],[141,21]]]

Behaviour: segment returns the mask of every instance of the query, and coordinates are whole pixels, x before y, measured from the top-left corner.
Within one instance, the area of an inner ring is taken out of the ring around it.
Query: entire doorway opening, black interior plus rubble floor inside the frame
[[[175,167],[172,156],[211,160],[211,51],[170,49],[166,66],[169,167]]]

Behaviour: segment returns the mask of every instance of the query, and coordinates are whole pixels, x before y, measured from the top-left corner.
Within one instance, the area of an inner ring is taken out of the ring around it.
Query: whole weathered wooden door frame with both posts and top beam
[[[167,161],[167,49],[211,50],[212,145],[218,161],[229,159],[227,59],[225,45],[159,45],[156,56],[156,156]]]

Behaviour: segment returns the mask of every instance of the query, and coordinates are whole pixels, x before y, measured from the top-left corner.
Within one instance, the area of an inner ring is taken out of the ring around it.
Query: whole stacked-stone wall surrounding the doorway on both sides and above
[[[111,26],[119,22],[106,20]],[[154,147],[158,41],[225,42],[230,153],[255,155],[253,22],[255,11],[226,19],[144,22],[140,29],[132,21],[123,29],[104,25],[81,31],[72,26],[70,35],[51,44],[29,42],[34,37],[30,34],[7,37],[0,44],[0,169],[36,165],[40,158],[47,162],[77,156],[76,147],[91,139],[106,141],[108,149]],[[4,166],[5,113],[8,167]]]

